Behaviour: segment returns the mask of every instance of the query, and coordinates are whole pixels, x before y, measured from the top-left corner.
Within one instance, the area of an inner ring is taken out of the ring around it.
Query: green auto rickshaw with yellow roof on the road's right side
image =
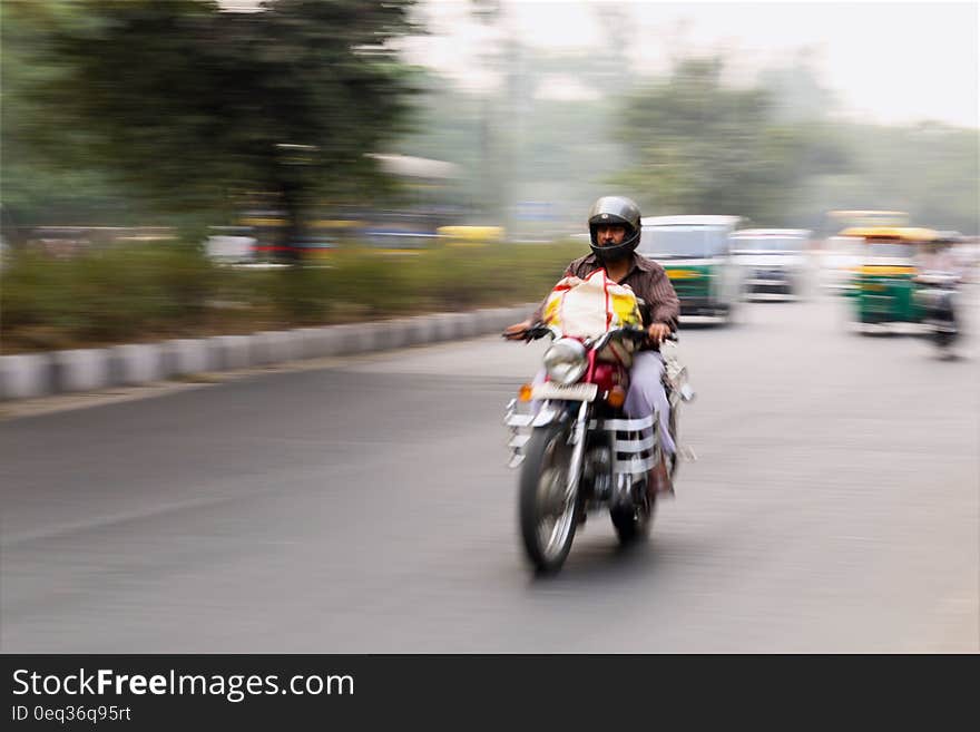
[[[924,310],[915,297],[917,254],[938,237],[931,228],[859,226],[840,236],[862,241],[861,262],[850,295],[859,323],[919,323]]]

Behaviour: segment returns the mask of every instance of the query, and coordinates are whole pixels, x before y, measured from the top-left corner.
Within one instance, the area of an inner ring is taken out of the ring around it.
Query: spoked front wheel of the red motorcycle
[[[578,491],[569,490],[569,424],[535,429],[521,467],[519,519],[525,552],[536,569],[561,568],[571,549],[578,513]]]

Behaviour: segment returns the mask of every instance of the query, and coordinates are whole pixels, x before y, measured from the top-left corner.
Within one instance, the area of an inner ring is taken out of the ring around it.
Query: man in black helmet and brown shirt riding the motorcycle
[[[609,279],[628,285],[648,306],[649,342],[634,355],[624,410],[631,418],[649,417],[654,411],[658,413],[663,458],[650,468],[648,486],[651,492],[673,495],[668,465],[673,465],[676,446],[668,426],[670,409],[664,391],[664,361],[659,344],[677,331],[680,301],[664,267],[636,253],[640,238],[640,212],[636,203],[624,196],[604,196],[592,205],[588,223],[592,253],[571,262],[562,276],[585,279],[605,269]],[[528,320],[509,325],[504,336],[510,340],[523,339],[528,329],[541,320],[543,309],[542,302]],[[536,381],[543,381],[543,373],[539,373]]]

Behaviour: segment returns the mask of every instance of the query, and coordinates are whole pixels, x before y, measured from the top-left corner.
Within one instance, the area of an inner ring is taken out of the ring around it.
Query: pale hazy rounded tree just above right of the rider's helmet
[[[682,60],[629,95],[619,139],[636,165],[616,179],[644,211],[788,223],[795,192],[841,157],[817,124],[777,121],[767,89],[726,87],[723,71],[721,58]]]

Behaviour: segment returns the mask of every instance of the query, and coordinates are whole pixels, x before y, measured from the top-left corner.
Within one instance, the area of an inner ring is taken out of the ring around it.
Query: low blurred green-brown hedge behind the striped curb
[[[329,266],[235,269],[190,243],[65,258],[16,251],[0,274],[0,352],[252,332],[543,299],[580,243],[336,250]]]

